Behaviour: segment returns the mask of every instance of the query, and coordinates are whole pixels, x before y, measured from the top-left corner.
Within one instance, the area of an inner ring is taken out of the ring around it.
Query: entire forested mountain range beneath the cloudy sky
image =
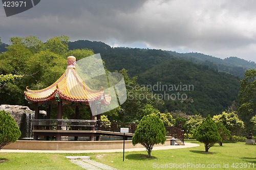
[[[88,40],[69,42],[69,48],[90,48],[94,53],[101,54],[109,70],[125,68],[131,77],[138,76],[140,85],[152,88],[156,94],[162,94],[163,99],[176,96],[176,100],[166,99],[164,108],[160,108],[161,111],[187,109],[190,113],[201,113],[205,116],[219,114],[227,109],[232,101],[238,100],[238,77],[243,77],[247,66],[247,61],[233,57],[222,60],[199,53],[180,54],[140,48],[112,48],[102,42]],[[253,62],[247,63],[254,66]],[[194,87],[193,90],[185,89],[185,86],[189,85]],[[153,86],[158,90],[153,89]],[[168,89],[159,90],[160,87]],[[173,87],[173,90],[169,87]],[[177,87],[182,89],[175,90]],[[194,104],[184,108],[178,99],[178,92],[193,98]]]

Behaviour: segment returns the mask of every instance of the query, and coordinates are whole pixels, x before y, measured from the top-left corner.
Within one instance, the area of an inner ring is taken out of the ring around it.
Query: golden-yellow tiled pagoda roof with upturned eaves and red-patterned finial
[[[110,95],[105,95],[103,89],[92,90],[87,86],[75,69],[76,58],[68,57],[68,66],[65,73],[52,85],[41,90],[30,90],[26,87],[25,98],[31,102],[45,102],[54,100],[66,100],[72,102],[101,102],[108,105]]]

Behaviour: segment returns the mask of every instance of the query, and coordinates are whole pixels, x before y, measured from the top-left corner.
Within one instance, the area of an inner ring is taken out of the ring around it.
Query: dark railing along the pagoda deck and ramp
[[[56,130],[101,130],[120,132],[120,128],[129,128],[129,133],[135,133],[137,123],[103,122],[99,120],[77,120],[77,119],[32,119],[32,125],[36,129]],[[89,129],[87,129],[89,127]],[[63,129],[64,128],[64,129]],[[184,143],[184,131],[173,126],[165,126],[166,136],[180,139]]]

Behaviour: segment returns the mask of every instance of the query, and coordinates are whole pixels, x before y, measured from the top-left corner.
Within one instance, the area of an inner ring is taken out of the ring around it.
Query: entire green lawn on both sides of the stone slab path
[[[199,143],[197,141],[189,141]],[[146,151],[91,154],[50,154],[50,153],[0,153],[0,169],[82,169],[71,163],[65,156],[87,155],[92,160],[125,169],[256,169],[256,145],[245,142],[223,143],[209,149],[205,154],[203,143],[200,147],[152,151],[154,158],[146,158]],[[253,165],[254,164],[254,165]],[[188,166],[190,165],[190,166]],[[180,166],[181,168],[177,168]],[[210,167],[207,167],[210,166]],[[225,168],[225,167],[228,168]],[[249,167],[250,166],[250,167]],[[254,168],[253,168],[254,166]],[[205,168],[203,168],[205,167]]]

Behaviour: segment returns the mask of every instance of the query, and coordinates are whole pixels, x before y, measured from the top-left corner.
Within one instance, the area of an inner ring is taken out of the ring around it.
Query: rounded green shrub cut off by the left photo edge
[[[14,118],[5,110],[0,111],[0,150],[11,142],[15,142],[22,133]]]

